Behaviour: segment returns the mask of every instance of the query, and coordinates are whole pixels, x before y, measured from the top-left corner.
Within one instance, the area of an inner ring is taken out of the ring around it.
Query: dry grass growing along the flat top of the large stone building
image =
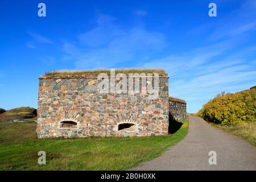
[[[42,77],[56,77],[56,76],[67,76],[67,75],[98,75],[100,73],[110,74],[110,69],[94,69],[94,70],[61,70],[46,72]],[[115,69],[115,73],[165,73],[164,69]]]

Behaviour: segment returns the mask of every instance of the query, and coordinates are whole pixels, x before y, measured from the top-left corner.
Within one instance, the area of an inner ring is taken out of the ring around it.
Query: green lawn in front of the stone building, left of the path
[[[187,120],[174,126],[181,127],[159,137],[36,139],[35,122],[0,123],[0,170],[128,169],[159,156],[187,135]],[[39,151],[46,152],[46,165],[38,164]]]

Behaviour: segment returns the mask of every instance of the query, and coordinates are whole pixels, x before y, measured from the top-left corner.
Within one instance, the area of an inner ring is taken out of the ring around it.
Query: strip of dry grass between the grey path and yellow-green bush
[[[242,123],[236,126],[221,126],[214,123],[210,123],[210,125],[237,135],[237,137],[243,138],[250,144],[256,146],[256,123]]]

